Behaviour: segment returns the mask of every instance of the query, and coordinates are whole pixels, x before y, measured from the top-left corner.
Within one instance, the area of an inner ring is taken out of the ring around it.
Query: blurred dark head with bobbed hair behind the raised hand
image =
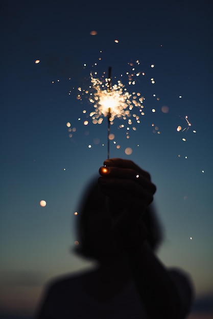
[[[162,241],[162,229],[153,204],[144,212],[143,221],[147,241],[152,250],[156,251]],[[101,261],[103,258],[115,258],[121,253],[111,232],[107,196],[99,190],[98,177],[87,184],[81,198],[77,237],[79,245],[74,250],[83,257]]]

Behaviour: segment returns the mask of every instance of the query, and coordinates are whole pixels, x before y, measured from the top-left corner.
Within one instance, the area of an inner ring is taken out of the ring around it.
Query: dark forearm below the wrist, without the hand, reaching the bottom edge
[[[146,241],[126,248],[132,276],[141,300],[152,319],[183,319],[187,314],[169,272],[154,255]]]

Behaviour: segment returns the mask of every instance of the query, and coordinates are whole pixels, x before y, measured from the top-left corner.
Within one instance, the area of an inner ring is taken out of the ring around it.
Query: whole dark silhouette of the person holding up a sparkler
[[[83,196],[77,254],[96,267],[57,278],[46,287],[36,319],[183,319],[191,310],[188,275],[156,256],[162,229],[150,174],[111,158]]]

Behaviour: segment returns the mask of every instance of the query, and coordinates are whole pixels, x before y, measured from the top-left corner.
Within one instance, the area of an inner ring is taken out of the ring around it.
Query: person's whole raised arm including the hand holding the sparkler
[[[185,318],[192,302],[190,283],[179,271],[167,270],[147,241],[143,216],[156,191],[150,174],[121,158],[104,165],[100,189],[109,198],[112,230],[128,257],[141,301],[152,319]]]

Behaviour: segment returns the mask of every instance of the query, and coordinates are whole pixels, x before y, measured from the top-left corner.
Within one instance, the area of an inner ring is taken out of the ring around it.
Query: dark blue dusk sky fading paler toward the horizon
[[[3,2],[1,311],[32,313],[46,281],[90,266],[70,254],[74,212],[86,182],[107,157],[107,121],[92,124],[93,106],[76,97],[78,87],[88,88],[91,71],[101,76],[109,66],[112,84],[123,74],[128,92],[146,98],[145,116],[136,131],[130,127],[129,139],[125,129],[117,129],[124,120],[111,125],[116,144],[110,144],[110,157],[131,159],[151,173],[165,232],[160,259],[188,272],[197,296],[212,292],[209,3]],[[145,72],[134,86],[126,75],[132,67]],[[178,132],[178,125],[187,127],[186,115],[192,125]],[[67,122],[76,127],[72,138]]]

